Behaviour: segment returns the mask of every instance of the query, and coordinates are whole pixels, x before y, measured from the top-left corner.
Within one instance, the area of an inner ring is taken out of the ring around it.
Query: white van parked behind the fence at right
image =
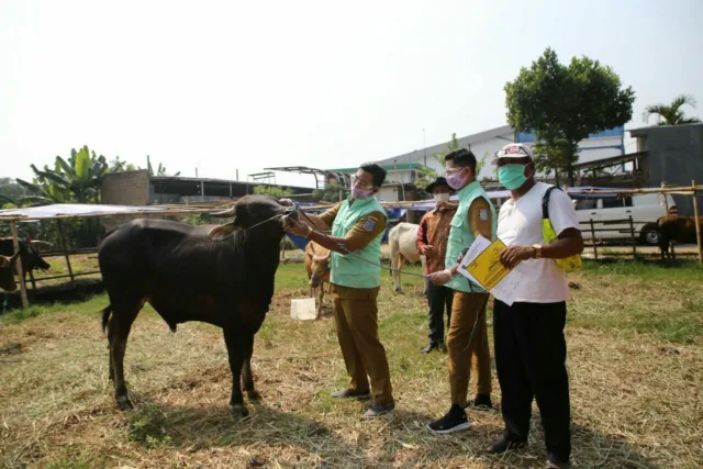
[[[676,213],[677,204],[666,194],[669,213]],[[576,214],[581,223],[583,239],[592,239],[591,223],[596,239],[631,239],[629,217],[633,217],[635,236],[652,246],[659,243],[657,220],[666,215],[663,196],[658,193],[623,194],[603,199],[573,199]],[[607,230],[607,231],[604,231]]]

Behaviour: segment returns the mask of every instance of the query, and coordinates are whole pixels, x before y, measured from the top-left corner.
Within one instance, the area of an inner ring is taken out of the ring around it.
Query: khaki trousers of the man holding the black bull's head
[[[350,391],[366,391],[371,379],[373,403],[393,401],[391,373],[386,349],[378,337],[379,288],[349,288],[333,284],[334,320],[342,356],[352,380]],[[367,378],[368,375],[368,378]]]

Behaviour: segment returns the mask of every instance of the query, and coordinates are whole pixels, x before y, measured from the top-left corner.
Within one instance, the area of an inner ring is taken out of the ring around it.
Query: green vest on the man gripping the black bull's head
[[[357,199],[352,205],[349,205],[349,200],[345,200],[339,206],[339,211],[332,224],[332,236],[345,237],[361,217],[372,212],[380,212],[386,217],[386,211],[376,197]],[[354,254],[332,253],[330,281],[342,287],[380,287],[382,237],[383,232],[379,233],[366,247]]]

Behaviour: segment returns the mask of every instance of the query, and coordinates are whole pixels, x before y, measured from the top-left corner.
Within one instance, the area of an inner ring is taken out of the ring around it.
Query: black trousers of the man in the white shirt
[[[561,460],[568,460],[571,455],[566,321],[566,302],[515,302],[509,306],[495,300],[493,305],[495,369],[501,387],[504,435],[515,442],[527,440],[535,398],[547,451]]]

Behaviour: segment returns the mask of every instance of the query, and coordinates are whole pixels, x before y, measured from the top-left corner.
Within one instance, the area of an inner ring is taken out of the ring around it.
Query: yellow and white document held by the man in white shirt
[[[511,305],[515,301],[516,287],[524,272],[521,265],[511,270],[501,264],[503,249],[505,244],[501,239],[491,243],[483,236],[477,236],[458,270],[470,281],[490,291],[493,297]]]

